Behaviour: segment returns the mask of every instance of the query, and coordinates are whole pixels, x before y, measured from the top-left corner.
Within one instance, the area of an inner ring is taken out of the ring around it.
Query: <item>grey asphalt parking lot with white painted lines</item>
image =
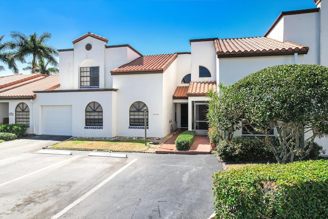
[[[0,218],[208,218],[214,212],[212,174],[221,164],[212,154],[40,154],[61,140],[15,141],[0,144]]]

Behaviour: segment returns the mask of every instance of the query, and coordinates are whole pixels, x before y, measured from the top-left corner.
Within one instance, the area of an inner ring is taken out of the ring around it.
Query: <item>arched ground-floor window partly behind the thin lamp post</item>
[[[145,111],[146,111],[146,126],[148,126],[148,107],[143,102],[134,102],[130,107],[130,126],[145,126]]]

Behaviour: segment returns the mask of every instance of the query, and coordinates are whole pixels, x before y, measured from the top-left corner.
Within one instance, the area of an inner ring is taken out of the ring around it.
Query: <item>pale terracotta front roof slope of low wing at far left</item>
[[[22,86],[7,89],[0,92],[1,98],[35,98],[36,94],[33,91],[53,90],[58,88],[59,75],[43,75],[37,81],[26,83]]]

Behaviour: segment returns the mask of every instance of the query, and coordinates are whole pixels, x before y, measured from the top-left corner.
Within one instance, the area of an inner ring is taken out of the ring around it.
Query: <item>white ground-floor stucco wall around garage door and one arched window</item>
[[[43,134],[43,106],[72,106],[72,135],[76,137],[113,137],[115,116],[112,103],[115,91],[37,93],[35,99],[36,134]],[[85,110],[89,103],[98,102],[103,108],[103,129],[85,129]]]

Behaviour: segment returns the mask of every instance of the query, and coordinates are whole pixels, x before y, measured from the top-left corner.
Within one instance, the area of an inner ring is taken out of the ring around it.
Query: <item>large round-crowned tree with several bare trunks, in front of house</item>
[[[265,136],[254,135],[271,148],[278,163],[293,162],[297,153],[302,152],[300,158],[310,153],[315,137],[328,133],[328,68],[318,65],[265,68],[232,85],[223,93],[221,102],[223,109],[228,110],[219,114],[223,121],[231,115],[234,120],[245,118],[249,126]],[[221,105],[217,107],[222,111]],[[270,140],[270,128],[277,131],[279,145]]]

